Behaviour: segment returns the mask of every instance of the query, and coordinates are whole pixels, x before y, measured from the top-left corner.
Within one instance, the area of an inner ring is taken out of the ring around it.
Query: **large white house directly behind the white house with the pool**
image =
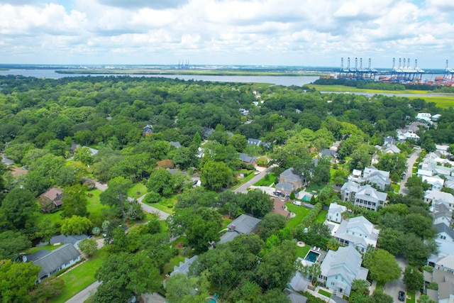
[[[354,246],[362,253],[367,250],[367,246],[377,246],[379,233],[380,231],[375,228],[374,224],[364,216],[343,220],[338,228],[331,231],[339,243],[344,246]]]

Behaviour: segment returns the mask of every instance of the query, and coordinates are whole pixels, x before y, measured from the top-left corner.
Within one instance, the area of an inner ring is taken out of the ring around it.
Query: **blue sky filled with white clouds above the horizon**
[[[444,68],[452,16],[450,0],[0,0],[0,63]]]

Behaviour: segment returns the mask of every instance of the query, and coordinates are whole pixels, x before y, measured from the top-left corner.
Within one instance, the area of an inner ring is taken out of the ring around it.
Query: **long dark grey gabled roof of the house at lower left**
[[[43,277],[43,275],[47,275],[49,272],[57,270],[61,265],[76,259],[79,255],[80,253],[72,244],[65,244],[36,260],[33,262],[33,265],[41,266],[38,277]]]

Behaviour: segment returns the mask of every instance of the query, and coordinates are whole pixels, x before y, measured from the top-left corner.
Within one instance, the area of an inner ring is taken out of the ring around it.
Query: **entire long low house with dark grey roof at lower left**
[[[23,257],[24,262],[33,261],[33,265],[41,267],[36,283],[80,261],[80,253],[72,244],[65,244],[52,251],[43,250]]]

